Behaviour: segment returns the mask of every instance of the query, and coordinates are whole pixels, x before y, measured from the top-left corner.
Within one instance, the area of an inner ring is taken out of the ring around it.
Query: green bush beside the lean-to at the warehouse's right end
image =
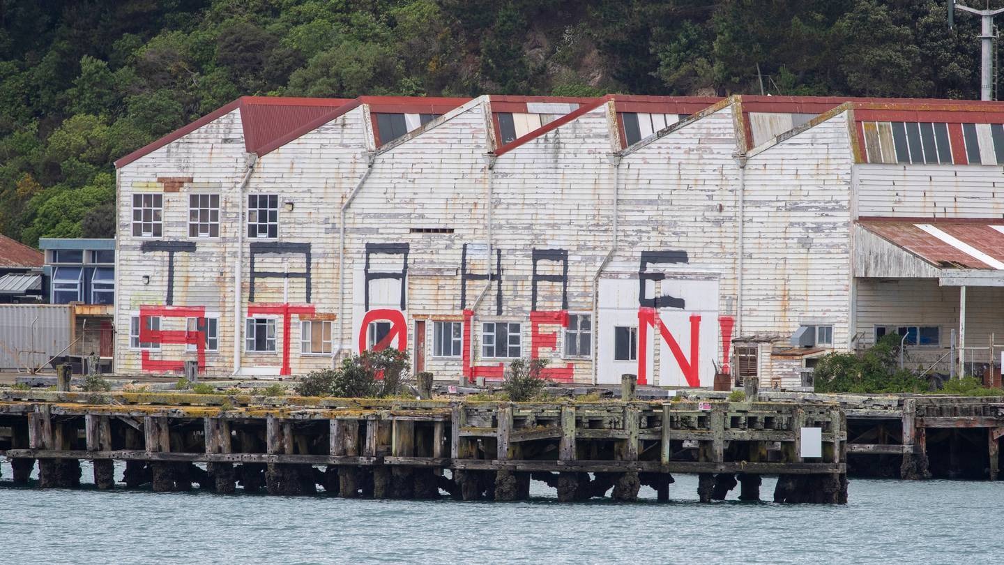
[[[816,364],[816,392],[924,392],[928,382],[899,368],[900,336],[888,335],[862,355],[831,353]]]

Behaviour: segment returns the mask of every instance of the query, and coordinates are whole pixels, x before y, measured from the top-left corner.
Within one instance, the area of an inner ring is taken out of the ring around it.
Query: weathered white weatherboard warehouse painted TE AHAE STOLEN
[[[116,163],[116,366],[281,376],[397,347],[451,380],[543,357],[564,382],[799,387],[889,332],[933,363],[960,323],[951,285],[993,302],[994,263],[887,232],[998,233],[980,202],[1000,168],[966,144],[1004,114],[841,102],[242,99]]]

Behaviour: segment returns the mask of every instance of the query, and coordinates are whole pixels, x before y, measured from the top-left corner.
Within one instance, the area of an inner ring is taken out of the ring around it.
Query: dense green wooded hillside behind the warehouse
[[[246,95],[979,92],[940,0],[51,4],[0,18],[0,231],[32,244],[112,235],[112,160]]]

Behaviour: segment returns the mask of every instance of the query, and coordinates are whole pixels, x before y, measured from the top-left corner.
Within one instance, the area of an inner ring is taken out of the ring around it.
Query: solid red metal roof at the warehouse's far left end
[[[262,148],[269,146],[275,140],[305,124],[331,114],[350,102],[346,99],[242,97],[203,116],[188,126],[175,130],[154,143],[130,153],[115,161],[115,168],[124,167],[235,110],[239,110],[241,113],[245,150],[248,153],[259,153]]]

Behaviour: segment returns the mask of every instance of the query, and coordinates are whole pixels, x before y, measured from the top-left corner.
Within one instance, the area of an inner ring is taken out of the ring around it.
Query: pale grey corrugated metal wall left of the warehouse
[[[0,305],[0,370],[38,366],[69,345],[71,307]]]

